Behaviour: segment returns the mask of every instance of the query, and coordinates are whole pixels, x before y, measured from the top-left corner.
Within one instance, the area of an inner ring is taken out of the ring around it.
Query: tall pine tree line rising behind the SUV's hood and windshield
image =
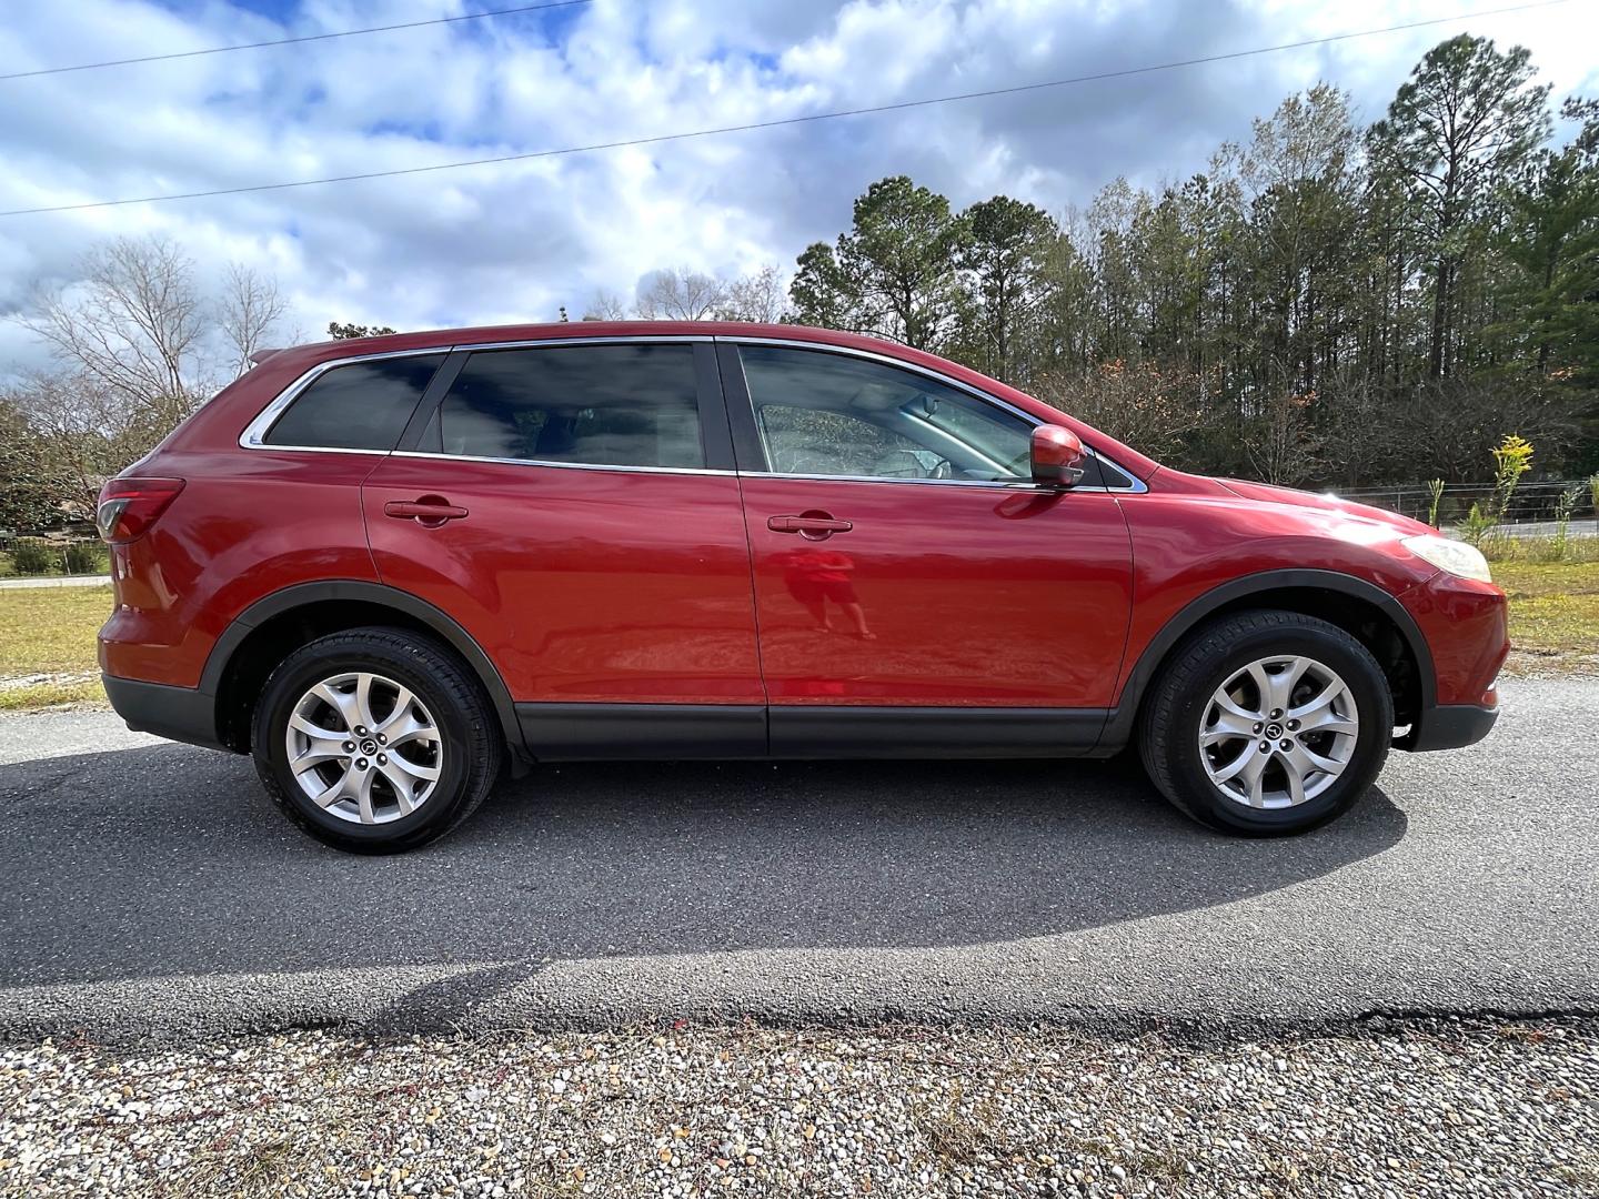
[[[1525,50],[1434,46],[1362,128],[1329,85],[1209,168],[1062,216],[903,176],[809,246],[793,318],[931,350],[1172,465],[1270,481],[1484,478],[1521,433],[1599,468],[1599,102]]]

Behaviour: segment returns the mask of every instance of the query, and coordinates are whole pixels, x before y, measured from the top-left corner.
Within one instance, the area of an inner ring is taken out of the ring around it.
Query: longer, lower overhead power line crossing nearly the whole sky
[[[1257,46],[1255,50],[1234,50],[1225,54],[1206,54],[1202,58],[1185,58],[1174,62],[1156,62],[1146,67],[1124,67],[1121,70],[1100,70],[1092,75],[1073,75],[1070,78],[1044,80],[1041,83],[1019,83],[1011,88],[985,88],[983,91],[961,91],[953,96],[931,96],[926,99],[913,101],[897,101],[894,104],[871,104],[860,109],[836,109],[833,112],[811,112],[801,117],[776,117],[764,121],[745,121],[742,125],[718,125],[708,129],[688,129],[683,133],[660,133],[648,137],[622,137],[608,142],[590,142],[587,145],[563,145],[553,150],[526,150],[523,153],[502,153],[492,158],[465,158],[449,163],[432,163],[429,166],[403,166],[389,171],[360,171],[355,174],[329,174],[320,179],[291,179],[277,184],[248,184],[243,187],[213,187],[203,192],[166,192],[161,195],[139,195],[128,197],[123,200],[90,200],[78,205],[50,205],[45,208],[13,208],[11,211],[0,213],[0,217],[8,216],[34,216],[40,213],[78,213],[90,208],[120,208],[123,205],[150,205],[165,203],[168,200],[201,200],[216,195],[243,195],[248,192],[281,192],[289,187],[318,187],[321,184],[349,184],[361,179],[393,179],[406,174],[430,174],[433,171],[456,171],[464,166],[491,166],[496,163],[520,163],[532,161],[536,158],[561,158],[574,153],[593,153],[596,150],[619,150],[628,145],[659,145],[662,142],[678,142],[689,141],[692,137],[713,137],[723,133],[750,133],[753,129],[777,129],[788,125],[809,125],[814,121],[838,120],[839,117],[867,117],[881,112],[903,112],[907,109],[924,109],[934,104],[955,104],[958,101],[985,99],[991,96],[1017,96],[1028,91],[1044,91],[1047,88],[1065,88],[1075,83],[1097,83],[1100,80],[1110,78],[1126,78],[1129,75],[1150,75],[1159,70],[1177,70],[1178,67],[1198,67],[1206,62],[1226,62],[1241,58],[1254,58],[1258,54],[1274,54],[1282,50],[1302,50],[1305,46],[1324,46],[1332,42],[1348,42],[1358,37],[1375,37],[1378,34],[1398,34],[1407,29],[1425,29],[1428,26],[1441,26],[1450,21],[1466,21],[1481,16],[1500,16],[1503,13],[1525,13],[1533,8],[1553,8],[1554,5],[1564,5],[1569,0],[1538,0],[1537,3],[1511,5],[1506,8],[1485,8],[1476,13],[1458,13],[1455,16],[1439,16],[1430,18],[1426,21],[1407,21],[1399,26],[1383,26],[1382,29],[1361,29],[1353,34],[1332,34],[1329,37],[1313,37],[1302,42],[1282,42],[1276,46]]]

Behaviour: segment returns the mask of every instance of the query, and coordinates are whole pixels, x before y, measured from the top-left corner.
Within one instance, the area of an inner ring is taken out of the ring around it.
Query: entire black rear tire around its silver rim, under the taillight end
[[[433,790],[409,815],[352,823],[318,807],[289,771],[285,732],[301,695],[341,671],[373,671],[409,687],[443,745]],[[350,854],[400,854],[449,833],[499,779],[505,745],[478,679],[443,644],[403,628],[352,628],[289,654],[262,691],[251,734],[256,772],[283,814],[318,841]]]

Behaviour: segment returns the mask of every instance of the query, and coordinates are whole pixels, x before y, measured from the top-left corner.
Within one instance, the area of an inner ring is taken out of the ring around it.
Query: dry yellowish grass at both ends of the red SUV
[[[1599,561],[1500,561],[1493,580],[1509,593],[1519,654],[1554,668],[1599,662]],[[0,679],[94,671],[109,612],[109,587],[0,590]],[[0,686],[0,711],[90,702],[104,702],[98,678]]]

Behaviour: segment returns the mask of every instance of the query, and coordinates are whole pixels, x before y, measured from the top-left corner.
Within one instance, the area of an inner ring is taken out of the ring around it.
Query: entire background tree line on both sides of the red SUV
[[[1353,488],[1482,480],[1511,433],[1599,472],[1599,101],[1522,48],[1434,46],[1380,120],[1318,85],[1158,189],[956,211],[905,176],[790,273],[648,273],[588,320],[800,321],[887,337],[1206,473]],[[281,337],[277,285],[201,285],[169,241],[91,253],[21,315],[56,368],[0,388],[0,528],[93,505]],[[568,312],[561,309],[560,318]],[[393,333],[328,326],[329,336]],[[278,341],[281,344],[281,341]]]

